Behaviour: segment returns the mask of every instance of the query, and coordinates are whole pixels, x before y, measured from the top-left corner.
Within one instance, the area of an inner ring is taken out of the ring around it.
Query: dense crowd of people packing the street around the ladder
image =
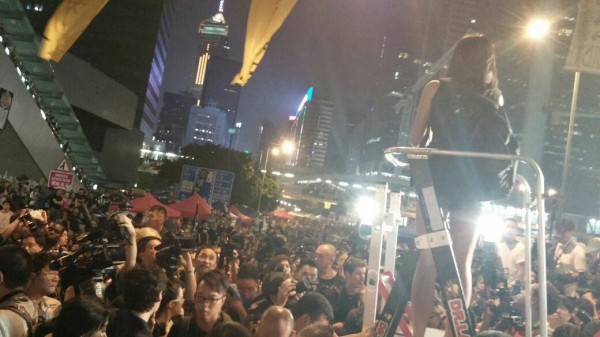
[[[372,333],[362,329],[368,240],[356,226],[268,217],[242,225],[218,211],[194,224],[168,218],[162,206],[132,216],[114,207],[122,196],[25,193],[27,185],[3,183],[0,193],[0,336]],[[537,284],[534,276],[532,294],[523,292],[519,224],[504,224],[499,243],[476,249],[470,310],[479,332],[521,336],[524,298],[537,302]],[[190,238],[194,245],[183,244]],[[595,260],[586,259],[573,222],[559,221],[556,239],[549,329],[592,337],[600,331]],[[434,302],[427,327],[444,330],[441,300]],[[542,314],[535,305],[533,314]]]

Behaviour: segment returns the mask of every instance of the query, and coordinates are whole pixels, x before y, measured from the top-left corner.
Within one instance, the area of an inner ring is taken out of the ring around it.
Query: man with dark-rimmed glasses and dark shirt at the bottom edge
[[[211,270],[200,278],[194,294],[194,312],[175,323],[169,337],[203,337],[217,329],[231,317],[222,312],[229,288],[227,276]]]

